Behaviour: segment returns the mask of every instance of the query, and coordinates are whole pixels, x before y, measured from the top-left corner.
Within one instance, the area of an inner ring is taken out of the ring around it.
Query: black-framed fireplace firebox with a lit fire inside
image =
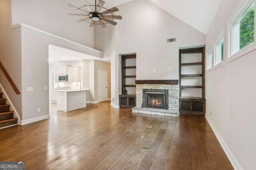
[[[168,110],[168,90],[143,89],[142,107]]]

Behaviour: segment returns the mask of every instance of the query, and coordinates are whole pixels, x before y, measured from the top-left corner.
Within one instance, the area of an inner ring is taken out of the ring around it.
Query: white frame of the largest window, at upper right
[[[244,12],[246,12],[246,10],[249,8],[249,6],[254,2],[254,42],[251,43],[250,45],[247,45],[246,47],[244,47],[243,49],[240,49],[239,51],[237,51],[236,53],[232,54],[232,50],[233,50],[233,25],[240,19],[240,17],[244,14]],[[230,20],[230,22],[228,22],[227,25],[227,31],[228,31],[228,55],[226,57],[227,59],[227,63],[229,63],[230,61],[233,61],[239,57],[242,57],[243,55],[246,55],[247,53],[250,53],[251,51],[253,51],[254,49],[256,49],[256,38],[255,38],[255,34],[256,34],[256,15],[255,15],[255,10],[256,10],[256,0],[246,0],[242,5],[239,6],[238,10],[235,10],[235,15],[232,16],[232,19]]]

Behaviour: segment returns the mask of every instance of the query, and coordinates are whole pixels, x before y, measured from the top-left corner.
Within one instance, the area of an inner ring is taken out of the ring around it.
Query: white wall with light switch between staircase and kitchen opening
[[[21,28],[22,37],[22,120],[49,114],[49,93],[44,86],[49,85],[49,44],[63,47],[80,53],[98,56],[99,52],[88,49],[51,35],[30,29]],[[34,87],[34,91],[27,91]],[[38,112],[37,108],[41,108]]]

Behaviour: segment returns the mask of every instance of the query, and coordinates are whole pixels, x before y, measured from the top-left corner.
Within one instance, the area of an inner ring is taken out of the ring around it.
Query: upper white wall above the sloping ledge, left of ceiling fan
[[[12,23],[25,23],[93,48],[94,28],[77,23],[77,16],[68,16],[76,13],[68,4],[65,0],[12,0]]]

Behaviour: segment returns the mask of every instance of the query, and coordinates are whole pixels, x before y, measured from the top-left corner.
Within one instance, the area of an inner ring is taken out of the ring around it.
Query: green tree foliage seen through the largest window
[[[254,8],[240,21],[240,49],[254,42]]]

